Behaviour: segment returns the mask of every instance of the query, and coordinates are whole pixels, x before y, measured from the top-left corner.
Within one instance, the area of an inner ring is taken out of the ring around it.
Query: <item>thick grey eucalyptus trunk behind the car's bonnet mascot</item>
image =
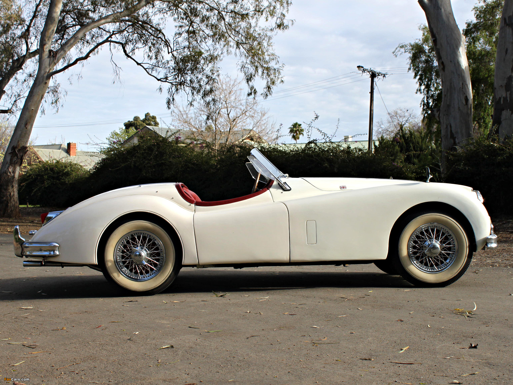
[[[450,0],[419,0],[437,55],[442,81],[440,127],[443,159],[473,137],[472,86],[463,37]]]

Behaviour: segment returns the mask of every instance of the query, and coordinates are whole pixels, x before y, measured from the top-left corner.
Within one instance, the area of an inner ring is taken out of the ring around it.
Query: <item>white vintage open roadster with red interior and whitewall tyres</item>
[[[479,191],[392,179],[290,178],[260,151],[251,194],[204,202],[183,183],[105,192],[42,216],[24,266],[89,266],[156,294],[180,269],[374,263],[414,285],[458,280],[478,249],[497,246]],[[46,217],[45,217],[46,216]],[[265,247],[264,247],[265,245]]]

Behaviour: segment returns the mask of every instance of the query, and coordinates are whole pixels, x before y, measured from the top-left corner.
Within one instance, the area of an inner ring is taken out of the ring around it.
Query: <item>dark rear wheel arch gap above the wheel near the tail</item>
[[[126,213],[117,217],[103,230],[96,246],[96,263],[98,265],[102,265],[104,263],[103,256],[100,254],[105,249],[109,236],[120,225],[120,223],[131,219],[146,220],[161,226],[169,235],[173,243],[180,245],[180,247],[175,248],[176,260],[180,261],[181,264],[183,263],[184,245],[174,226],[168,220],[155,213],[150,213],[149,211],[132,211],[131,213]]]

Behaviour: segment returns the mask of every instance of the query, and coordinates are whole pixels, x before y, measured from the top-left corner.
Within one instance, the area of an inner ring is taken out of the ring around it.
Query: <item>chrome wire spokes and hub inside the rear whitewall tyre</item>
[[[115,248],[116,267],[128,279],[146,281],[162,269],[166,261],[164,245],[149,232],[130,232]]]

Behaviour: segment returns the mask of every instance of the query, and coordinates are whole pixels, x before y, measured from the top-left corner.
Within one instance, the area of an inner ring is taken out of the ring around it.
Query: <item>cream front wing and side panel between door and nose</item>
[[[442,202],[460,210],[472,226],[478,248],[483,247],[490,231],[486,209],[465,186],[401,181],[319,195],[313,193],[313,186],[304,185],[306,181],[290,178],[287,183],[291,191],[273,188],[271,193],[289,211],[292,263],[385,259],[394,223],[406,210],[424,202]],[[340,183],[344,185],[344,178]],[[307,221],[315,221],[315,244],[307,244]]]

